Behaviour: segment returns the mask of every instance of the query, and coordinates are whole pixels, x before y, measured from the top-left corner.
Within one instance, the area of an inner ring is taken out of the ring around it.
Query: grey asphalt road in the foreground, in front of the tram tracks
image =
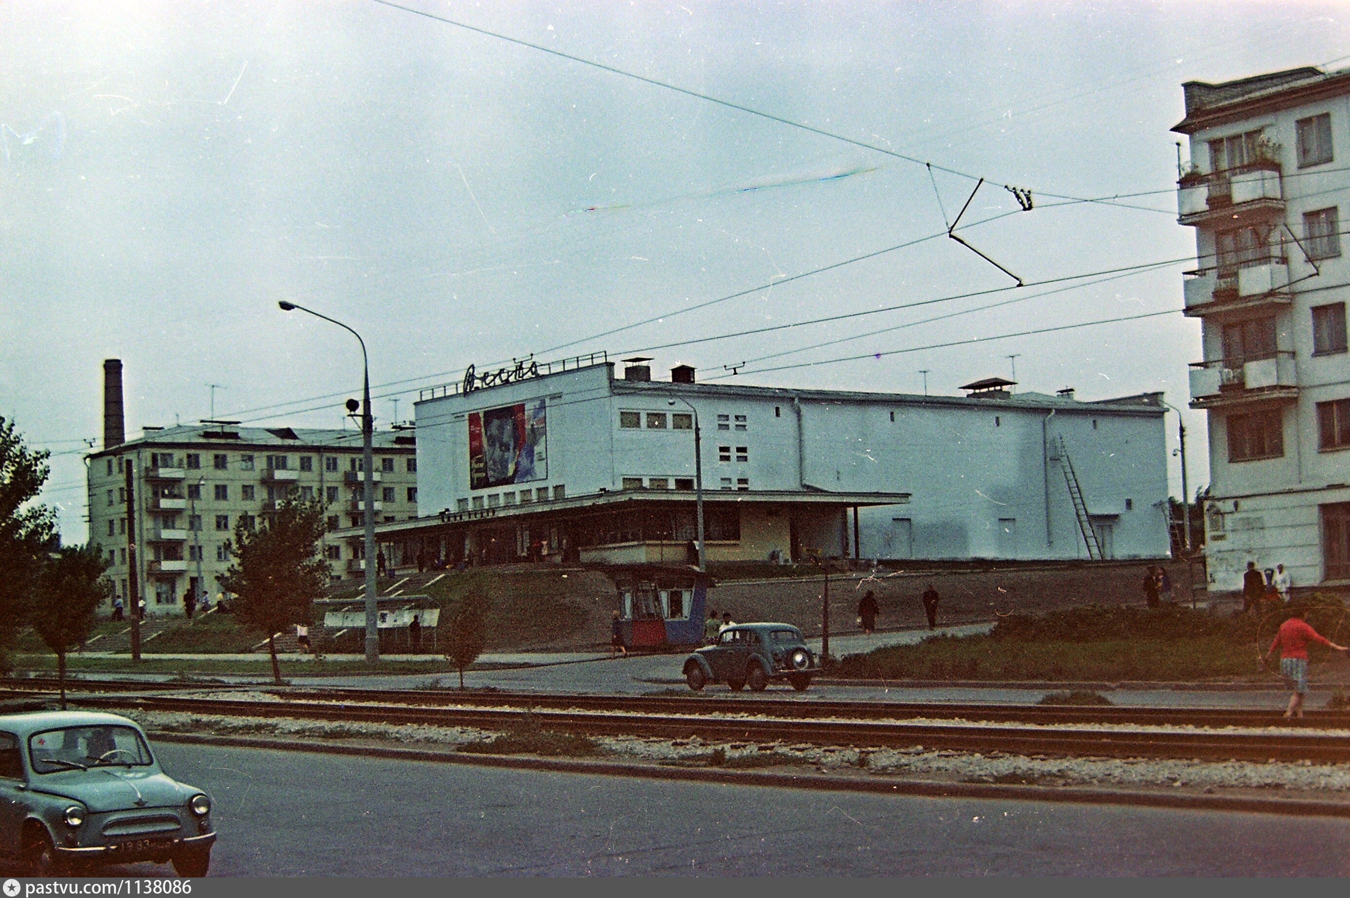
[[[161,744],[212,875],[1346,875],[1350,822]],[[1260,849],[1254,849],[1260,847]],[[171,875],[148,864],[136,875]]]

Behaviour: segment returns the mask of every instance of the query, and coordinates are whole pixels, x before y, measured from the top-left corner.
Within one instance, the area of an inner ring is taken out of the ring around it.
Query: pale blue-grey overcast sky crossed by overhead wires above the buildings
[[[355,340],[278,300],[360,332],[377,427],[466,365],[591,351],[900,393],[1015,370],[1184,408],[1180,85],[1350,46],[1343,4],[1297,0],[400,1],[459,24],[374,0],[0,5],[0,415],[51,451],[66,542],[105,358],[128,436],[352,427]],[[946,236],[959,213],[992,262]],[[1108,319],[1133,320],[1023,334]]]

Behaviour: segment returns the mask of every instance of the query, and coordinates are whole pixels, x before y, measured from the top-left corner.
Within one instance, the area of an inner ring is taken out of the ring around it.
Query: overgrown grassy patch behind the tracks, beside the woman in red
[[[1319,597],[1308,604],[1315,606],[1308,623],[1318,632],[1339,641],[1350,637],[1346,620],[1350,614],[1338,600]],[[859,679],[979,681],[1260,677],[1258,641],[1265,651],[1282,620],[1284,614],[1273,614],[1258,624],[1251,616],[1230,617],[1185,608],[1079,608],[1044,616],[1013,614],[987,636],[940,636],[917,645],[850,655],[838,664],[837,674]],[[1312,650],[1315,668],[1324,659],[1324,651]],[[1270,679],[1269,674],[1265,677]]]

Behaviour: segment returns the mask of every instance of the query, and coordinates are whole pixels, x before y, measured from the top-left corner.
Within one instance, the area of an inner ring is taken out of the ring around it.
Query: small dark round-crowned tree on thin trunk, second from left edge
[[[57,655],[62,710],[66,708],[66,654],[84,645],[100,602],[112,597],[112,582],[104,577],[105,570],[108,562],[97,546],[62,548],[38,570],[28,620]]]

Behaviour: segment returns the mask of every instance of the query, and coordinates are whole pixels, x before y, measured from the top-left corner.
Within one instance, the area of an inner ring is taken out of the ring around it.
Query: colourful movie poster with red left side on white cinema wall
[[[548,479],[544,400],[468,413],[468,486]]]

